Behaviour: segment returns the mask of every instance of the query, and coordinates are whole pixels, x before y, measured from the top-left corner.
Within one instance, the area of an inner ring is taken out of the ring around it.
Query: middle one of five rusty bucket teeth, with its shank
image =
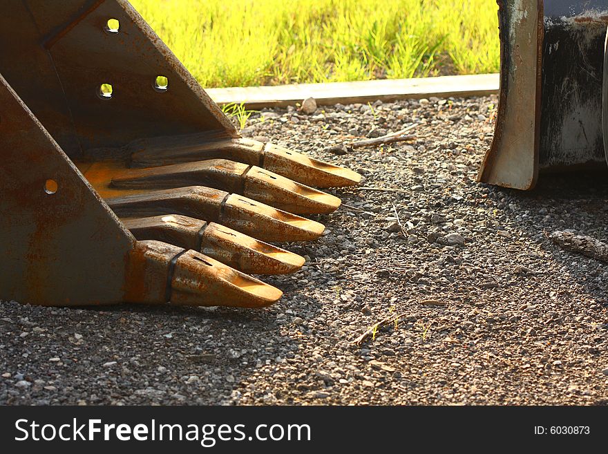
[[[314,240],[325,230],[314,220],[202,186],[147,191],[106,202],[121,218],[181,214],[220,223],[263,241]]]

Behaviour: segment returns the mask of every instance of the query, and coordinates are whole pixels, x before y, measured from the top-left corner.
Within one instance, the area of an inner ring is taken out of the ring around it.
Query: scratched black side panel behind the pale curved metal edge
[[[540,167],[605,163],[602,79],[608,0],[545,0]]]

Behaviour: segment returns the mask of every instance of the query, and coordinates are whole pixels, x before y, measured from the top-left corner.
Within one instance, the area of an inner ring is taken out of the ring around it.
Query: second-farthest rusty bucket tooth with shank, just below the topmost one
[[[115,189],[174,189],[194,185],[238,193],[295,214],[328,214],[341,204],[337,197],[271,171],[222,159],[128,169],[111,182]]]

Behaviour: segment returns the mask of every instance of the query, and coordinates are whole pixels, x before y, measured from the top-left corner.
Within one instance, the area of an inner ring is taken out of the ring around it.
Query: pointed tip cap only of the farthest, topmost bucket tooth
[[[343,187],[361,182],[361,175],[355,171],[275,144],[266,144],[262,167],[308,186]]]

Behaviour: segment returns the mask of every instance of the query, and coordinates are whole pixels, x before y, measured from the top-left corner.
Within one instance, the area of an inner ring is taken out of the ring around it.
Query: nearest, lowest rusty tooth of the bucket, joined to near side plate
[[[211,257],[162,243],[138,241],[129,259],[129,303],[263,308],[283,292]]]

